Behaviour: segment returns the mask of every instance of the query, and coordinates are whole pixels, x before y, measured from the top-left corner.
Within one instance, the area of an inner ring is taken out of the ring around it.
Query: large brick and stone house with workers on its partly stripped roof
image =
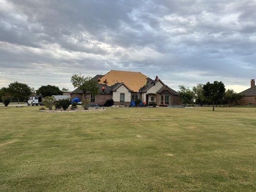
[[[114,105],[130,105],[131,101],[140,99],[146,105],[181,105],[179,94],[164,84],[158,77],[150,79],[141,72],[126,72],[111,70],[105,75],[96,75],[92,81],[98,82],[99,94],[90,98],[91,104],[103,105],[106,100],[113,99]],[[85,97],[83,91],[75,89],[72,98]]]

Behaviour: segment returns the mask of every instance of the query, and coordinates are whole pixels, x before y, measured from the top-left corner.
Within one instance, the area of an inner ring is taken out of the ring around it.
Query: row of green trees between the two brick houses
[[[220,81],[214,81],[213,83],[207,82],[206,84],[197,84],[192,89],[179,86],[178,91],[184,105],[197,104],[198,106],[208,105],[220,106],[225,104],[229,107],[236,104],[243,96],[234,92],[232,89],[226,90],[225,85]]]

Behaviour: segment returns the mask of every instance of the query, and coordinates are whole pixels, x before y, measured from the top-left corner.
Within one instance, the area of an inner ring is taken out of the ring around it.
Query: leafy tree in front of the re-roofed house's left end
[[[97,81],[91,80],[91,77],[85,77],[81,74],[73,74],[71,77],[71,82],[75,88],[79,88],[85,94],[90,93],[93,96],[98,95],[98,83]]]

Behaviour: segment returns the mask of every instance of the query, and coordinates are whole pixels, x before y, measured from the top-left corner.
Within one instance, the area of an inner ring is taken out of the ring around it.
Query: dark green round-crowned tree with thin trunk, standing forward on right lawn
[[[225,85],[221,81],[215,81],[212,84],[207,82],[207,84],[204,84],[203,90],[205,97],[212,102],[212,111],[214,111],[214,103],[224,97]]]

